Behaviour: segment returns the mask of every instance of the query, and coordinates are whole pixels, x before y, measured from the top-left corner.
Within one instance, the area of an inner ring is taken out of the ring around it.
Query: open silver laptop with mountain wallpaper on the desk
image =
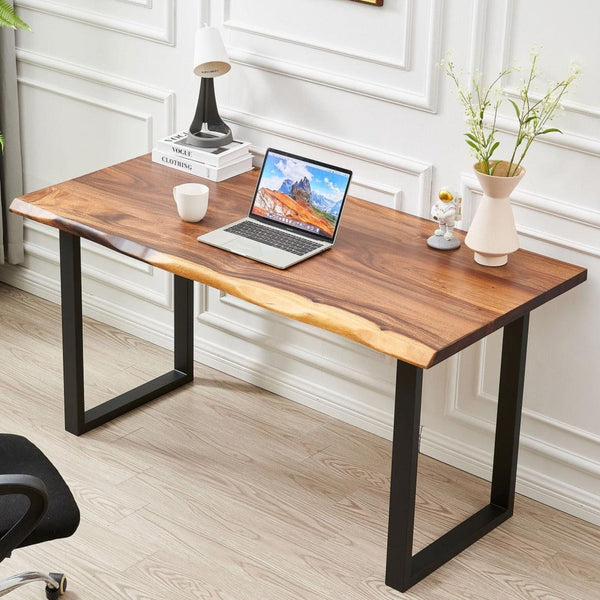
[[[199,242],[286,269],[335,242],[352,172],[269,148],[248,216]]]

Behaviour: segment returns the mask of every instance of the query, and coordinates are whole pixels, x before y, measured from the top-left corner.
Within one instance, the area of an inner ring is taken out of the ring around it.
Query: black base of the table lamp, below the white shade
[[[218,148],[232,141],[231,129],[223,122],[217,110],[214,81],[212,77],[203,77],[187,143],[199,148]]]

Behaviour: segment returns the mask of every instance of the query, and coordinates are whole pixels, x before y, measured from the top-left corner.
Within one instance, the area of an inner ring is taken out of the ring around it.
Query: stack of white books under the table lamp
[[[252,169],[250,142],[233,141],[219,148],[198,148],[186,140],[185,131],[159,140],[152,150],[152,160],[211,181],[223,181]]]

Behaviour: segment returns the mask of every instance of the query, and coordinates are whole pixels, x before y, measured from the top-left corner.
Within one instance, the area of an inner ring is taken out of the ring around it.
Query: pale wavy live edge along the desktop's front
[[[13,200],[10,210],[23,217],[57,227],[74,235],[83,234],[86,239],[132,258],[217,288],[296,321],[337,333],[378,352],[400,358],[417,367],[427,369],[438,362],[436,360],[437,352],[426,344],[393,331],[385,331],[368,319],[344,309],[316,303],[299,294],[264,283],[223,275],[192,261],[164,254],[136,242],[109,235],[81,223],[59,217],[46,209],[24,202],[20,198]]]

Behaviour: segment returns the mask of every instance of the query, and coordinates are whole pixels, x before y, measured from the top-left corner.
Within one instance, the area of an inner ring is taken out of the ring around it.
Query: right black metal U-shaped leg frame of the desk
[[[398,361],[385,582],[405,592],[513,512],[529,315],[504,328],[490,504],[413,556],[422,370]]]

